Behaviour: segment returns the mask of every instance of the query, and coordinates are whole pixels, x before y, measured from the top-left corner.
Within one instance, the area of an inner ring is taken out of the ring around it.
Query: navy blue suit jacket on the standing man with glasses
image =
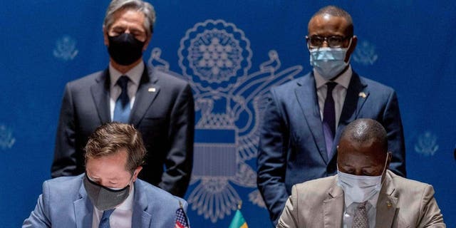
[[[393,152],[390,170],[405,177],[403,126],[392,88],[353,72],[332,148],[333,157],[326,153],[314,74],[271,90],[260,130],[257,184],[274,224],[293,185],[336,174],[337,142],[346,125],[357,118],[371,118],[383,125],[389,150]]]

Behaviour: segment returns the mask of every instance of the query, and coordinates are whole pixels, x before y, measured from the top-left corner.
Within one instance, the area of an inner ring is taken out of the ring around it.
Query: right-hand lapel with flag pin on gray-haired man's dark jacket
[[[136,93],[135,104],[130,113],[130,123],[138,125],[140,120],[145,115],[145,112],[152,104],[157,94],[160,92],[160,86],[156,83],[158,77],[155,76],[155,72],[152,68],[145,68],[142,72],[140,85],[138,86],[138,92]]]

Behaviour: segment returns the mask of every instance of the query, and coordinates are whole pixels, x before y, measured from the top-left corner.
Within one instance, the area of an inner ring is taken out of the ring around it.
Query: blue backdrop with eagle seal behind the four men
[[[408,177],[434,185],[456,227],[456,1],[151,2],[157,23],[145,61],[190,81],[195,94],[192,227],[228,227],[239,200],[249,227],[269,227],[254,172],[259,97],[311,70],[307,22],[327,4],[353,16],[353,68],[398,92]],[[0,227],[19,227],[50,177],[65,83],[108,64],[108,3],[0,4]]]

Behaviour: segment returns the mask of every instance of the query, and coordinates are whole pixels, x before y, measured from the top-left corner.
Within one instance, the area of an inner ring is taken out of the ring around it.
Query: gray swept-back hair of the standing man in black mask
[[[154,31],[155,24],[155,9],[150,3],[142,0],[113,0],[106,10],[103,27],[109,30],[114,23],[114,14],[123,9],[133,9],[139,11],[145,16],[144,28],[147,31],[147,36],[150,36]]]

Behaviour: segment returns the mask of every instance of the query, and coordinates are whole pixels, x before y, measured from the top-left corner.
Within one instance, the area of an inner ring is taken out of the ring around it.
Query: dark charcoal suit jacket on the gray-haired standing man
[[[100,71],[67,83],[56,135],[52,177],[85,172],[88,137],[110,122],[109,71]],[[147,156],[140,178],[183,197],[193,163],[195,105],[189,83],[145,68],[129,123],[142,133]],[[165,167],[165,170],[164,170]]]

